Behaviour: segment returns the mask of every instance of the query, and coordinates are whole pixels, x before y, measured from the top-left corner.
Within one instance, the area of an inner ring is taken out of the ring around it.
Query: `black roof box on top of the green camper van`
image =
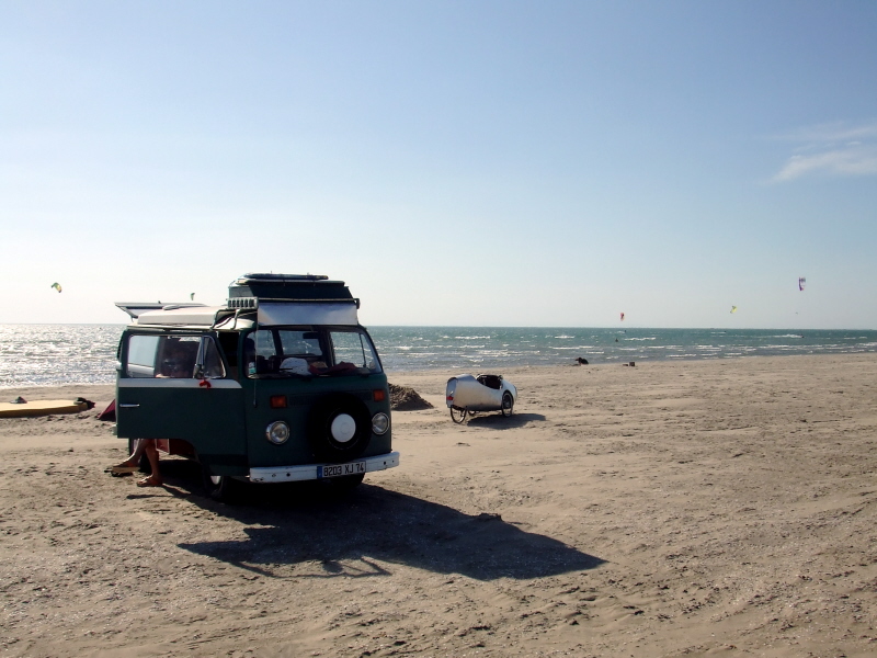
[[[230,308],[255,308],[259,302],[339,302],[360,306],[343,281],[322,274],[244,274],[228,286]]]

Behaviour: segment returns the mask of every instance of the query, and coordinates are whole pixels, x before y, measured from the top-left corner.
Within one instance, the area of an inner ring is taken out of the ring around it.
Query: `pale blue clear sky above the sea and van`
[[[875,329],[876,81],[868,0],[0,0],[0,324]]]

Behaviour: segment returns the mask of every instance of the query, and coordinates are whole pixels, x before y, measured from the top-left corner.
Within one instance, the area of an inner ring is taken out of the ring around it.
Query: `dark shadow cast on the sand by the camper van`
[[[318,567],[303,577],[390,575],[389,563],[477,580],[528,579],[592,569],[604,561],[521,530],[499,514],[469,515],[366,484],[346,496],[332,496],[324,485],[259,486],[260,500],[283,496],[288,501],[270,507],[258,501],[250,507],[220,506],[193,497],[192,502],[251,527],[244,527],[247,540],[180,547],[269,577],[276,576],[278,567],[305,563]]]

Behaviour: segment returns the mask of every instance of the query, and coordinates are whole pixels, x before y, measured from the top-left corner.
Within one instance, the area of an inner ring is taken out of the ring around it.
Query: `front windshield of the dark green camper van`
[[[260,327],[243,343],[250,378],[331,377],[381,372],[358,327]]]

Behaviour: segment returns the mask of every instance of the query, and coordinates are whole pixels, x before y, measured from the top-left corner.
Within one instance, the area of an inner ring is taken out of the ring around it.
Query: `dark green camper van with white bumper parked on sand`
[[[117,303],[117,434],[237,481],[354,486],[399,465],[387,376],[360,300],[318,275],[244,274],[224,306]]]

